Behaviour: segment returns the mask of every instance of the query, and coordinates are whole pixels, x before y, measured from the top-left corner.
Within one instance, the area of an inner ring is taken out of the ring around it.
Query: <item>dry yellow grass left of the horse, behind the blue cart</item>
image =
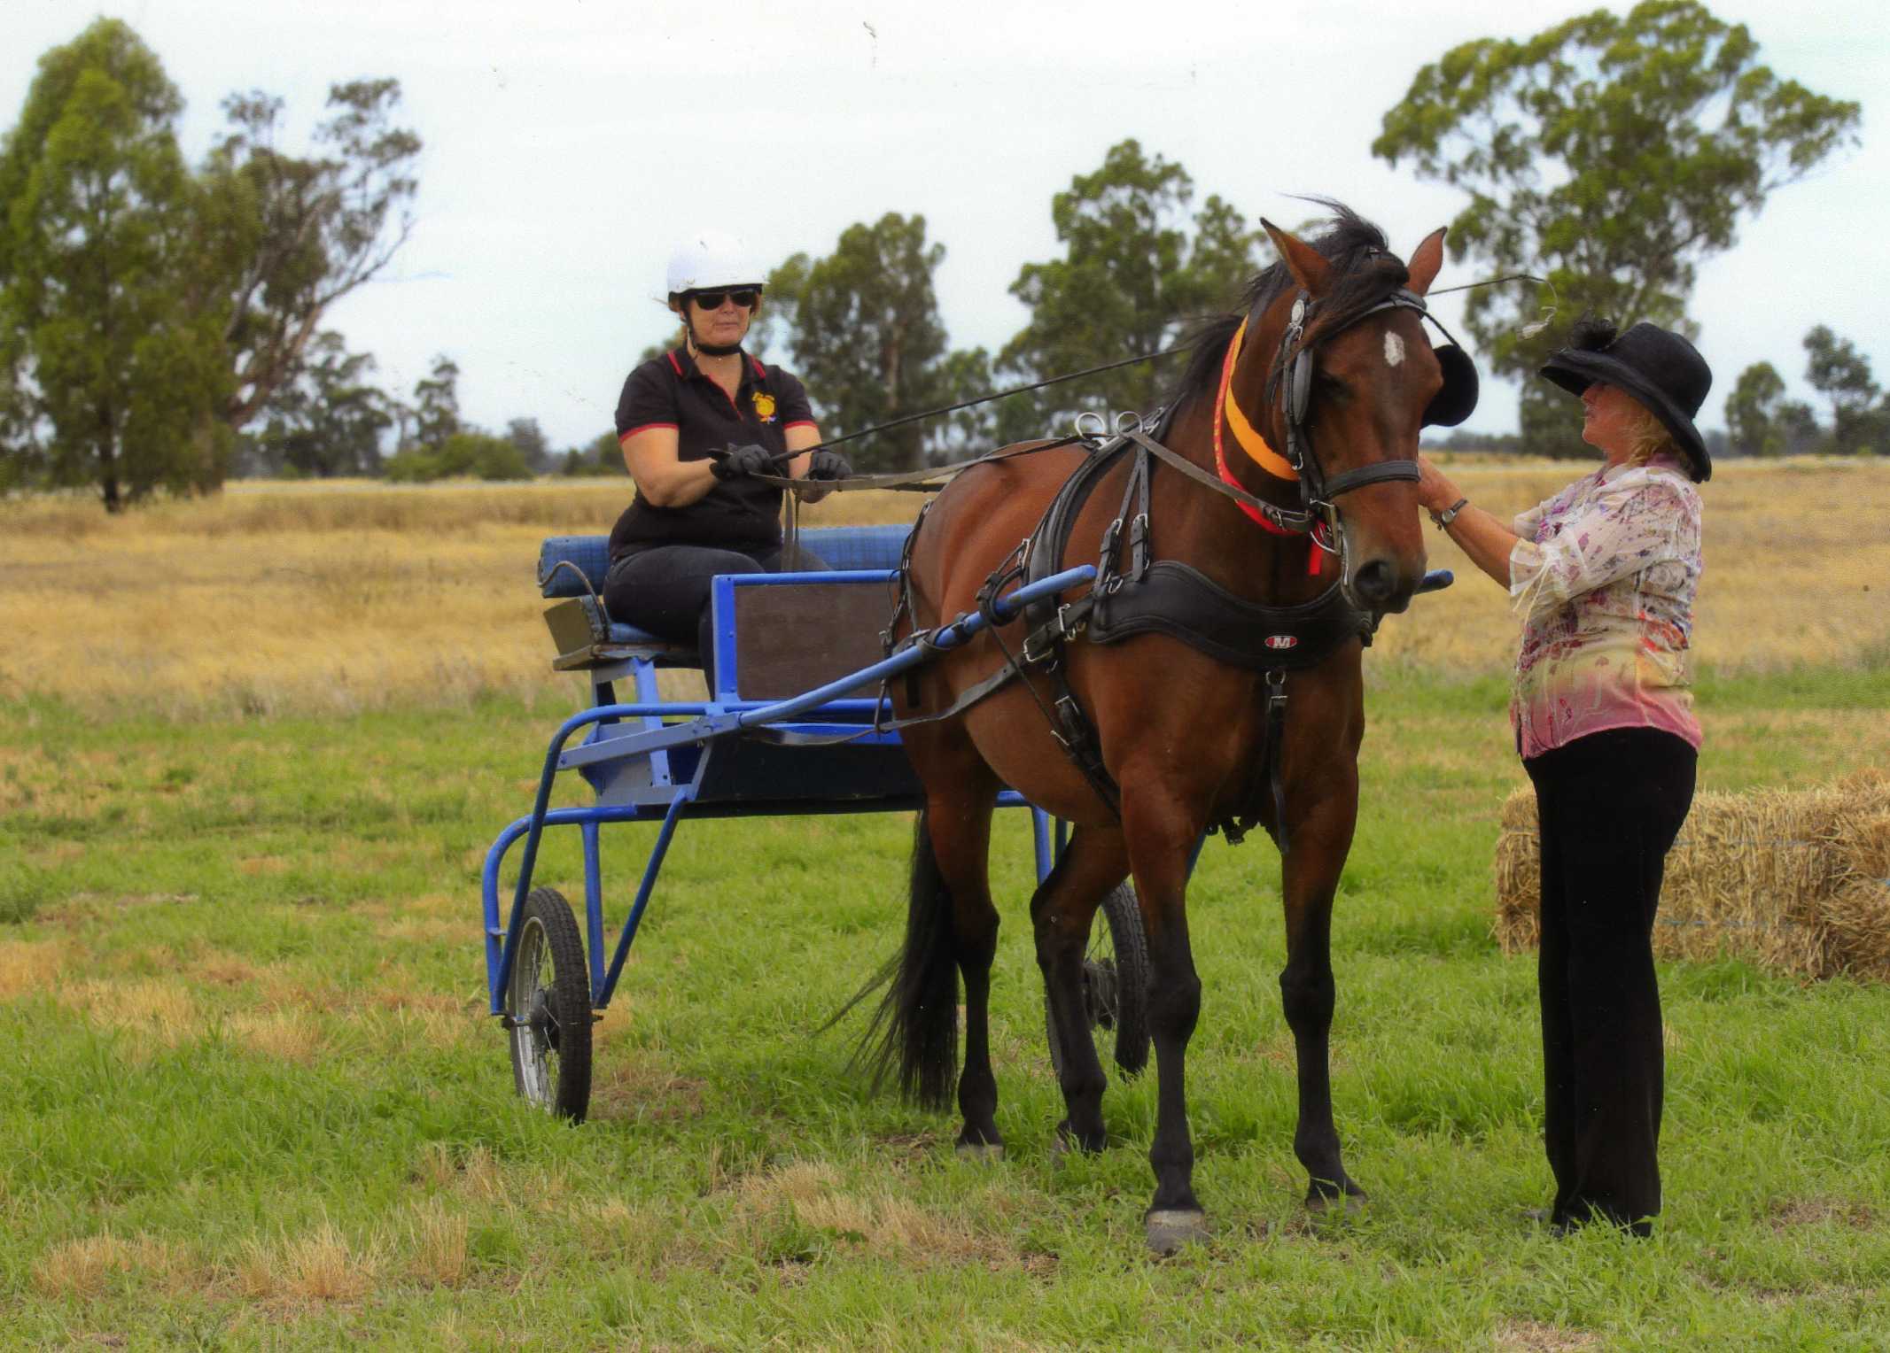
[[[119,518],[85,497],[0,503],[0,699],[181,716],[569,697],[533,584],[539,540],[609,531],[626,489],[232,486]],[[864,493],[803,520],[917,510]]]

